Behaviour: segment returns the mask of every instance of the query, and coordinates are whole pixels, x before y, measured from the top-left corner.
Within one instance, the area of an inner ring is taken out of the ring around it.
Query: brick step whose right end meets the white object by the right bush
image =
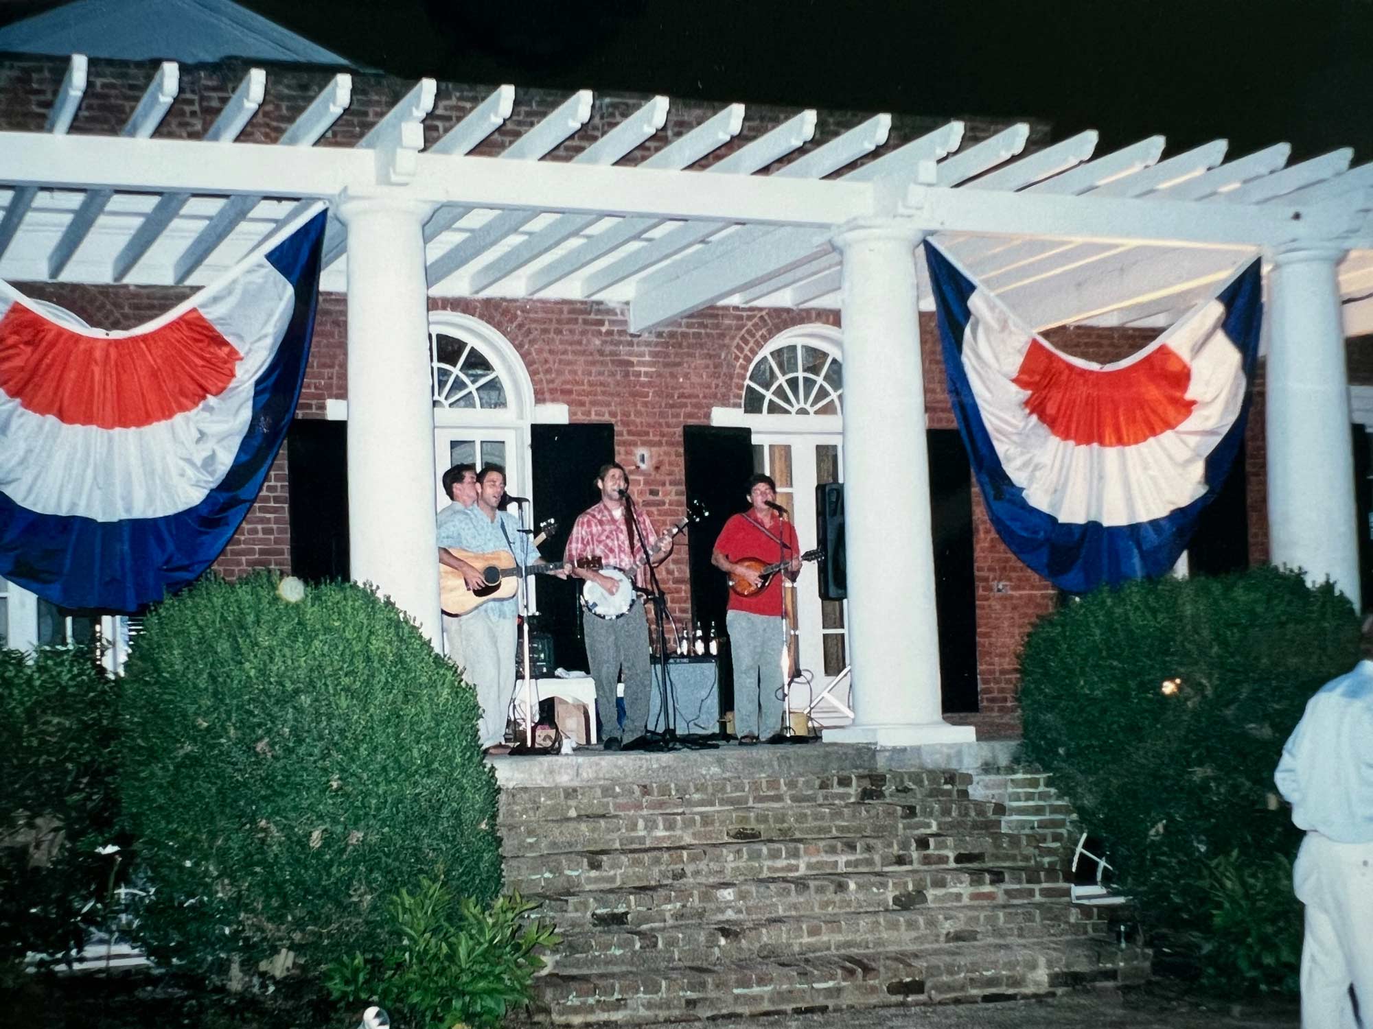
[[[884,873],[766,878],[610,889],[542,901],[560,932],[662,929],[795,915],[902,911],[936,904],[1065,900],[1061,873],[1027,868],[903,868]]]

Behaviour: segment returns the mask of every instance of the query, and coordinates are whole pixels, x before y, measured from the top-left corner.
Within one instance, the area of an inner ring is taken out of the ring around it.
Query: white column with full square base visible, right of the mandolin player
[[[833,742],[968,742],[943,720],[914,246],[894,220],[846,226],[844,532],[854,722]]]

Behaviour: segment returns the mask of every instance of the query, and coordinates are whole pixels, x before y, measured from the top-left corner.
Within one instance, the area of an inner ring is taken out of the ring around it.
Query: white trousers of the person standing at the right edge
[[[1363,1025],[1373,1026],[1373,844],[1307,833],[1292,885],[1306,904],[1303,1029],[1357,1029],[1350,985]]]

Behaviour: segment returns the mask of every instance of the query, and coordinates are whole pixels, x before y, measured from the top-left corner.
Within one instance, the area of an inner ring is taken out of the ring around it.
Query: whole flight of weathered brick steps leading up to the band
[[[832,748],[787,767],[778,749],[752,771],[669,755],[575,759],[612,782],[501,775],[507,888],[564,937],[537,1021],[1009,1000],[1148,975],[1148,952],[1071,903],[1071,809],[1042,777],[879,770],[861,748],[838,763],[851,771],[817,767]]]

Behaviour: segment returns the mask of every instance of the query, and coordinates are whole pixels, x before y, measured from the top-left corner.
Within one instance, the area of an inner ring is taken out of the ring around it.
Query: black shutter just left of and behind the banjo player
[[[540,553],[559,561],[577,516],[592,506],[596,469],[615,460],[615,427],[610,423],[585,425],[531,425],[530,462],[535,521],[557,520],[557,530],[540,543]],[[562,668],[586,670],[586,646],[578,616],[581,583],[552,575],[538,580],[538,631],[553,638],[553,663]]]

